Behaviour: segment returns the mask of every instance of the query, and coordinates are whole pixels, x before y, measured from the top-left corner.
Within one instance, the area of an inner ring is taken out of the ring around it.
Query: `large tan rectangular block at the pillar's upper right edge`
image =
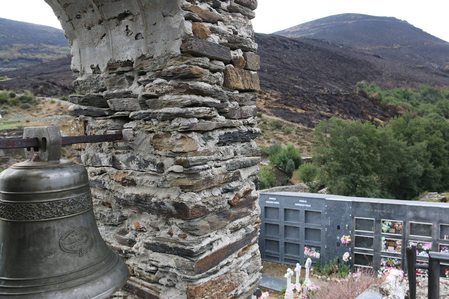
[[[241,91],[260,90],[260,81],[257,74],[247,70],[239,70],[234,67],[226,68],[223,85]]]

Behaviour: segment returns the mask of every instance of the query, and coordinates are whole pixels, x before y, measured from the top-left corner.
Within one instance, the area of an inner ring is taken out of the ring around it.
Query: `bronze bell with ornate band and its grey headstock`
[[[98,232],[87,171],[59,159],[57,127],[25,128],[36,137],[0,173],[0,299],[106,298],[129,272]]]

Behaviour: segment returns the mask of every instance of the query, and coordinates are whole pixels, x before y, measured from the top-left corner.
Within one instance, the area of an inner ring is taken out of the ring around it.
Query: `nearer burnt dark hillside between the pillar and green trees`
[[[359,81],[386,87],[448,86],[449,74],[361,53],[315,39],[256,34],[263,93],[259,108],[287,121],[314,127],[320,120],[386,121],[397,111],[354,93]]]

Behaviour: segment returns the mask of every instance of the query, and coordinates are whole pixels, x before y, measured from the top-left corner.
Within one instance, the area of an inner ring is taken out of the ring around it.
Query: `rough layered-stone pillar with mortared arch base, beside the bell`
[[[99,229],[131,279],[112,298],[251,297],[260,280],[256,0],[46,0],[72,44],[73,135]]]

